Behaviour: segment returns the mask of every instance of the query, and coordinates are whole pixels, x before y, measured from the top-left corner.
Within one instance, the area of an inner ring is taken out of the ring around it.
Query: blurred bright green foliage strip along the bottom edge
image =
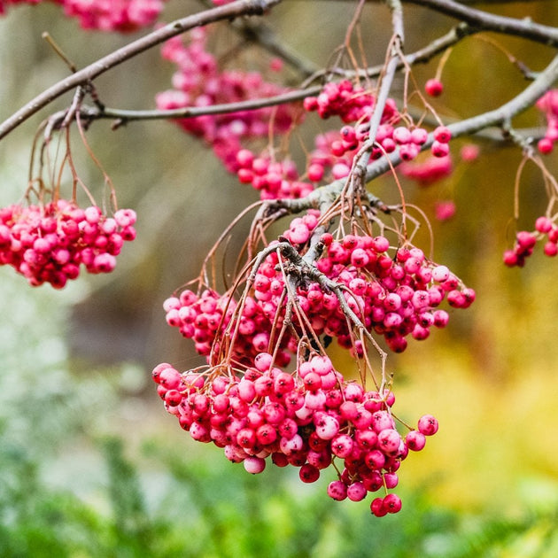
[[[322,483],[301,488],[283,470],[252,477],[210,449],[190,459],[151,442],[136,456],[140,468],[122,440],[99,446],[109,510],[43,483],[25,448],[0,446],[0,555],[550,558],[558,548],[558,508],[468,518],[415,493],[405,495],[399,515],[378,521],[364,502],[325,500]],[[161,472],[164,488],[150,505],[150,483]]]

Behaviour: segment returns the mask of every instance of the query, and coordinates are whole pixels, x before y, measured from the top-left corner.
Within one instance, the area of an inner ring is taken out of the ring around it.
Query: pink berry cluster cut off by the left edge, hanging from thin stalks
[[[46,205],[0,209],[0,265],[10,265],[32,286],[61,289],[80,275],[109,273],[122,244],[136,237],[136,213],[120,209],[107,217],[95,205],[81,209],[58,200]]]

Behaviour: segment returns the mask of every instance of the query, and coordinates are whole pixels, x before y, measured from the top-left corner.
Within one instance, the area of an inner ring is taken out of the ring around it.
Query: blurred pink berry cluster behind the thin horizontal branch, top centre
[[[257,72],[221,70],[215,56],[205,49],[206,38],[207,32],[200,27],[190,33],[188,44],[182,43],[180,37],[165,43],[163,57],[174,62],[179,69],[173,76],[174,89],[157,95],[159,109],[235,103],[272,97],[284,92],[284,89],[274,83],[264,81]],[[284,133],[291,128],[295,118],[294,105],[280,105],[255,111],[206,115],[177,122],[184,130],[211,145],[225,167],[236,173],[236,154],[243,147],[241,142],[266,138],[270,122],[273,122],[275,133]]]

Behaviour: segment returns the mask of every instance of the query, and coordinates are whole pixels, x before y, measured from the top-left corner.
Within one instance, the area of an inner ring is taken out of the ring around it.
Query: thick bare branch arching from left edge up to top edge
[[[152,47],[164,43],[167,39],[175,35],[189,31],[194,27],[202,27],[221,19],[235,19],[244,15],[262,15],[275,4],[279,4],[282,0],[236,0],[231,4],[226,4],[212,10],[205,10],[187,16],[182,19],[176,19],[172,23],[164,27],[160,27],[156,31],[143,36],[126,46],[114,50],[104,58],[100,58],[97,62],[86,66],[78,72],[69,75],[65,80],[46,89],[19,109],[18,112],[0,124],[0,139],[9,134],[14,128],[17,128],[22,122],[31,117],[35,112],[41,110],[44,106],[49,105],[54,99],[60,97],[67,91],[86,85],[97,76],[105,74],[108,70],[115,66],[119,66],[122,62],[130,58],[136,57],[138,54],[151,49]]]

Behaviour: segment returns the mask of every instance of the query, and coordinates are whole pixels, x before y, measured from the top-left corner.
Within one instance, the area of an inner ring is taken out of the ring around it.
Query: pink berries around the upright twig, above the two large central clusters
[[[355,155],[369,138],[368,123],[360,122],[369,118],[374,106],[375,97],[362,87],[354,86],[351,81],[327,83],[320,95],[305,98],[304,108],[306,112],[317,112],[323,119],[337,116],[345,122],[345,126],[315,137],[314,151],[307,158],[307,180],[298,174],[291,159],[281,162],[265,154],[257,156],[248,149],[236,153],[238,180],[260,190],[260,198],[275,199],[303,198],[323,178],[345,178],[351,173]],[[419,154],[422,145],[429,139],[427,130],[396,126],[400,120],[395,102],[389,99],[382,115],[382,124],[376,132],[372,159],[380,159],[396,150],[399,150],[399,155],[405,161],[415,159]],[[351,125],[351,122],[357,123]],[[450,174],[453,170],[449,159],[450,139],[448,128],[436,128],[431,145],[431,161],[417,167],[407,167],[408,174],[420,182],[433,182],[442,175]]]

